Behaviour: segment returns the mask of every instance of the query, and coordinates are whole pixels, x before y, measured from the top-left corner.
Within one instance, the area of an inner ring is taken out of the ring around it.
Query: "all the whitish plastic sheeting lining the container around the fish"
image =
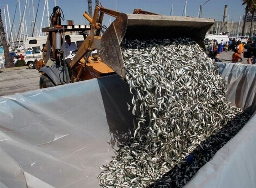
[[[253,113],[255,68],[220,70],[230,101]],[[0,97],[0,187],[98,187],[99,167],[132,128],[129,101],[118,75]],[[255,124],[253,116],[187,187],[256,187]]]

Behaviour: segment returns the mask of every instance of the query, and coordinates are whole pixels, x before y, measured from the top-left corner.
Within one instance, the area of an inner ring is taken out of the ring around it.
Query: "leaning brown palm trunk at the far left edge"
[[[5,32],[4,32],[4,25],[3,25],[3,20],[1,16],[1,9],[0,9],[0,38],[3,44],[4,48],[4,57],[5,57],[5,62],[6,62],[6,67],[14,67],[14,64],[11,59],[11,54],[9,52],[9,48],[7,46],[7,41],[5,37]]]

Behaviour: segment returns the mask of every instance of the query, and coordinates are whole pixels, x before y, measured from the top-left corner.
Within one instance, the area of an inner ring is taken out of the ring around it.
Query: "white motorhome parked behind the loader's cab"
[[[78,42],[84,41],[83,35],[70,35],[71,42],[75,42],[78,46]],[[46,44],[47,36],[34,36],[28,37],[25,40],[25,48],[33,48],[30,54],[27,54],[24,58],[25,63],[29,66],[30,69],[34,67],[35,59],[42,59],[42,49]]]

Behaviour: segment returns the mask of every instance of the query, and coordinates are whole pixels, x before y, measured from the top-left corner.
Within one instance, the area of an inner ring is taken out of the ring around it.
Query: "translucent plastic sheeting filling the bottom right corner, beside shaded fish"
[[[207,162],[185,188],[256,187],[256,115]]]

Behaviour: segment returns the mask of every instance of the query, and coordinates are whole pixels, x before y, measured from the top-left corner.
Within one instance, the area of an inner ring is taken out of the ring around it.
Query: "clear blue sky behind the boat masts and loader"
[[[10,20],[12,24],[12,20],[14,19],[15,7],[18,0],[0,0],[0,9],[2,19],[4,21],[4,28],[5,28],[5,18],[4,18],[4,8],[5,8],[5,15],[7,20],[7,32],[10,33],[10,26],[8,21],[8,14],[7,14],[7,7],[8,4]],[[40,2],[39,2],[40,1]],[[51,15],[53,7],[54,7],[54,0],[49,1],[49,15]],[[88,3],[87,0],[56,0],[57,5],[63,10],[65,21],[62,21],[62,24],[67,24],[66,20],[74,20],[75,24],[86,24],[86,20],[83,17],[83,12],[88,12]],[[95,7],[95,1],[93,1],[93,11]],[[141,8],[145,11],[155,12],[162,15],[170,15],[172,4],[173,4],[173,16],[182,16],[184,15],[184,7],[185,7],[186,0],[99,0],[102,6],[118,10],[124,13],[132,13],[134,8]],[[187,11],[186,16],[197,17],[199,13],[200,5],[203,5],[207,0],[187,0]],[[20,0],[20,10],[21,15],[23,13],[25,7],[26,0]],[[25,11],[25,20],[27,24],[27,32],[28,35],[31,36],[31,20],[33,20],[33,6],[32,0],[28,0],[29,6],[27,5]],[[38,30],[41,26],[42,17],[42,27],[48,27],[49,21],[47,20],[47,8],[45,9],[45,13],[43,16],[43,10],[45,5],[45,0],[34,0],[34,12],[37,11],[37,6],[39,2],[39,9],[37,15],[37,27]],[[234,22],[238,22],[240,16],[244,15],[245,6],[242,5],[242,0],[210,0],[203,6],[202,17],[205,18],[214,18],[215,20],[223,20],[223,13],[224,13],[224,6],[228,5],[228,17],[229,21],[233,20]],[[30,8],[28,8],[30,7]],[[16,15],[15,15],[15,27],[16,31],[19,30],[20,24],[20,15],[19,15],[19,6],[17,7]],[[31,17],[31,19],[30,19]],[[114,18],[110,16],[105,16],[103,20],[103,24],[108,26],[109,22],[114,21]],[[25,24],[25,21],[24,21]],[[88,24],[88,22],[87,22]],[[6,28],[5,28],[6,31]],[[26,32],[26,29],[25,29]],[[10,35],[9,35],[10,36]]]

